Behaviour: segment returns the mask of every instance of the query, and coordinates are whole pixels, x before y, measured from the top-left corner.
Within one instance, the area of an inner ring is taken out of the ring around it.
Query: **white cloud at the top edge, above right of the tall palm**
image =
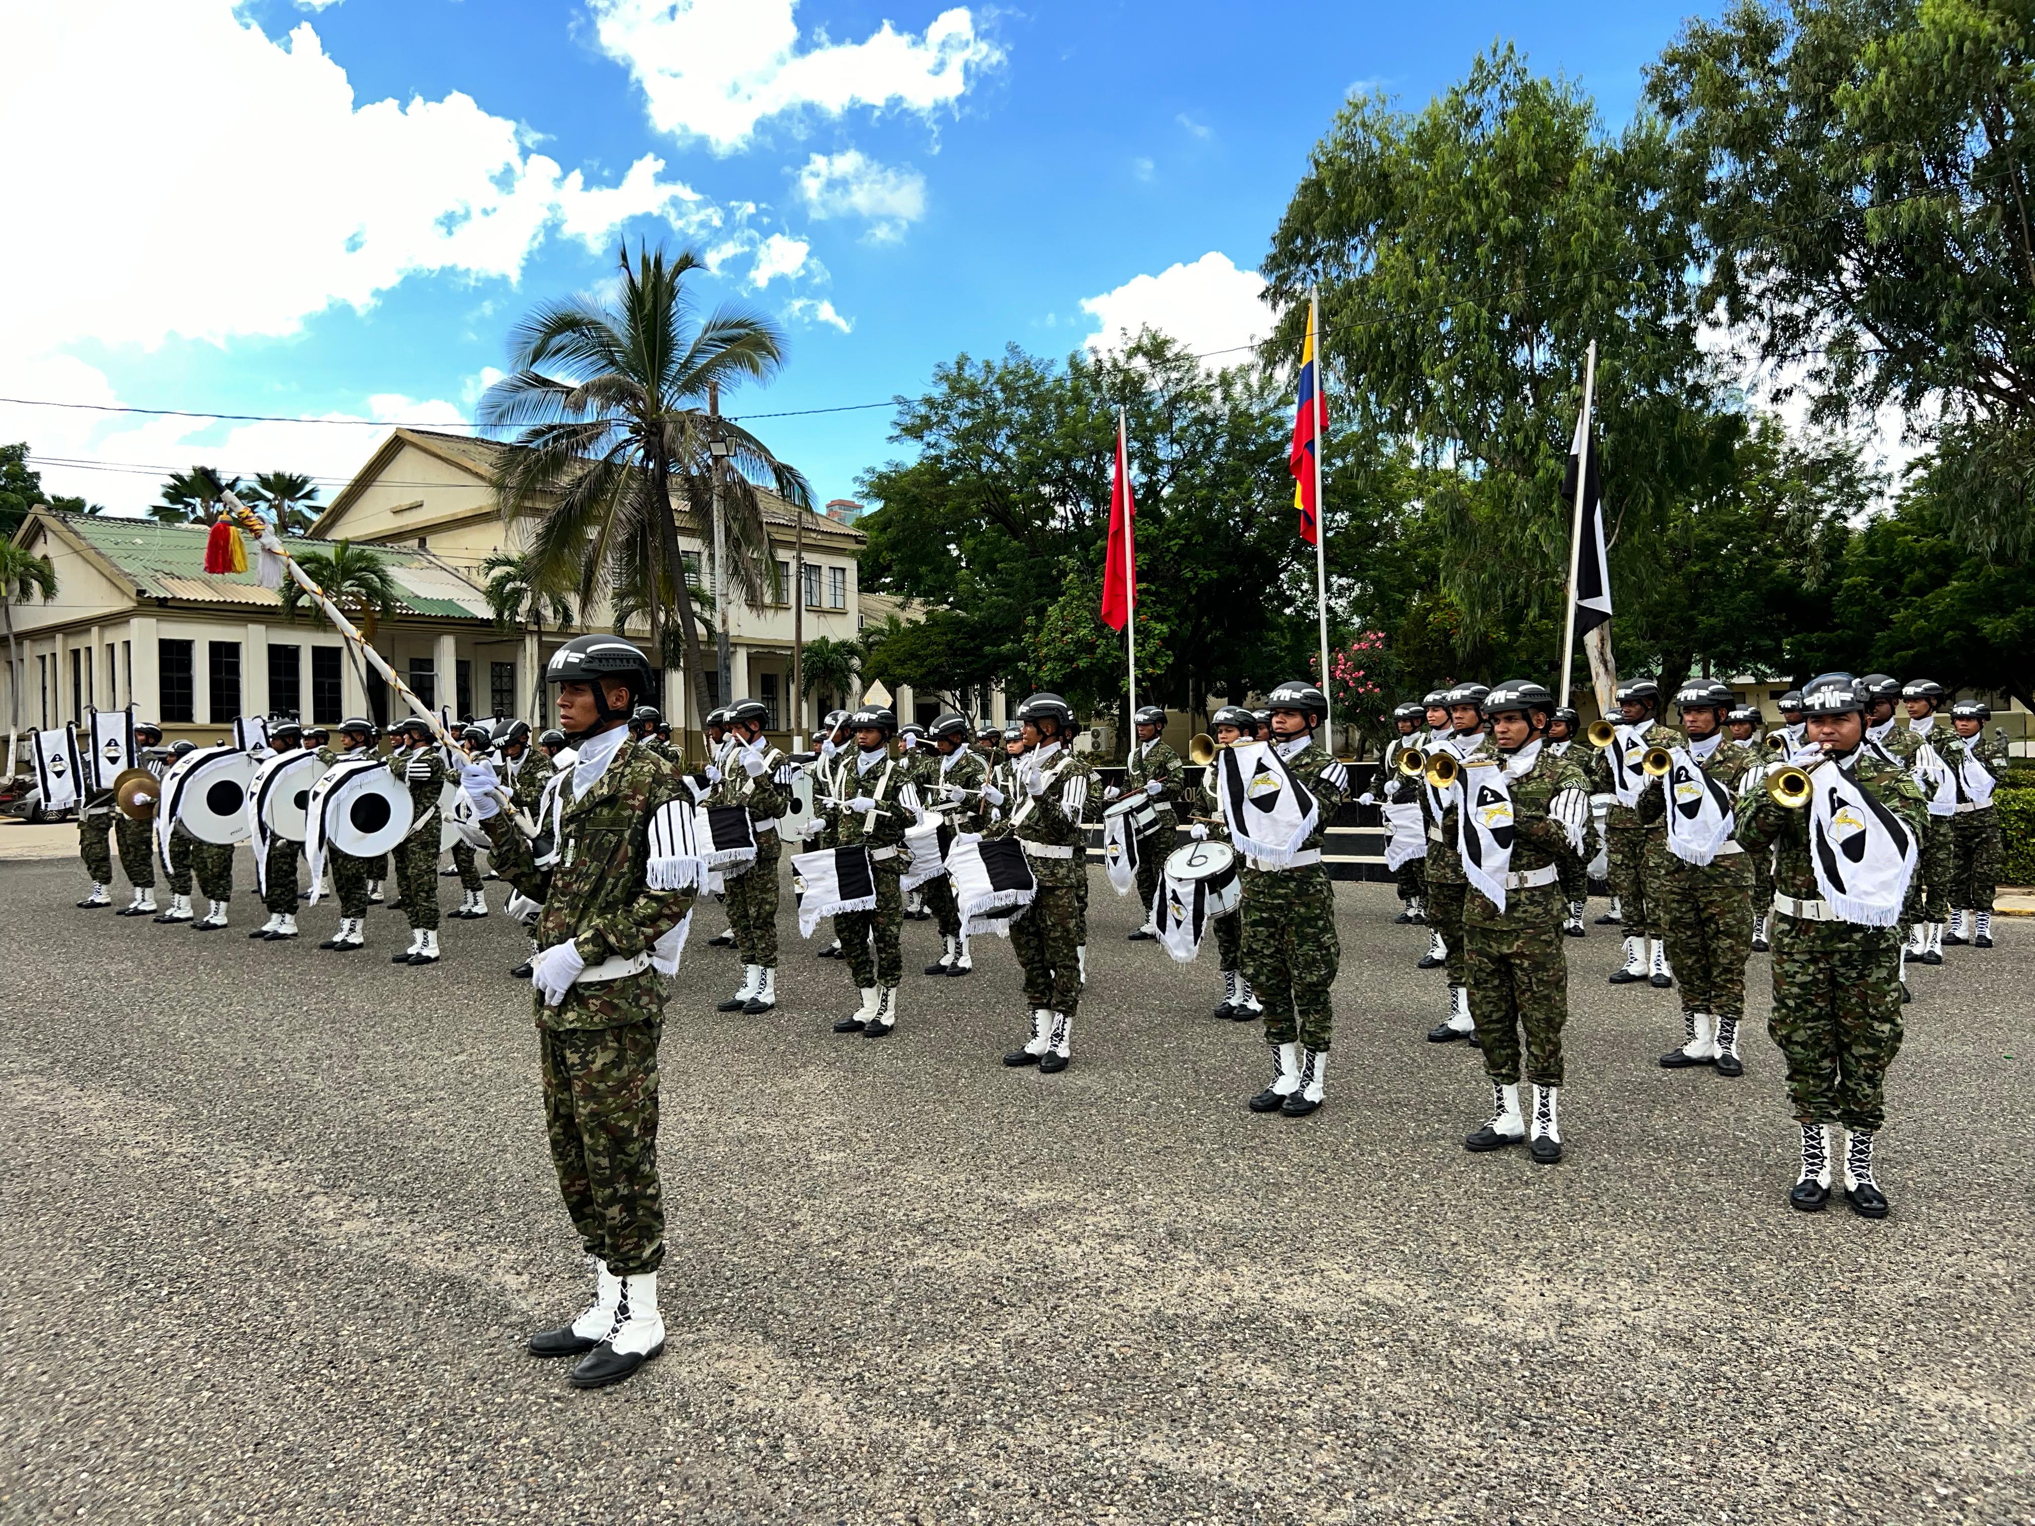
[[[643,87],[659,132],[741,149],[779,112],[838,116],[851,106],[930,116],[961,100],[1001,51],[961,6],[918,37],[887,20],[861,43],[824,33],[800,49],[798,0],[590,0],[608,57]]]

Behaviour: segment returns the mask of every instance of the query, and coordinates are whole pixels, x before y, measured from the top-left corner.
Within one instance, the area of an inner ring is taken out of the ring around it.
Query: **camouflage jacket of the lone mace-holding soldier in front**
[[[606,771],[580,798],[564,791],[558,859],[539,869],[531,844],[509,812],[484,826],[495,871],[517,893],[541,901],[531,936],[537,948],[568,938],[588,966],[608,958],[635,960],[692,912],[694,891],[653,891],[645,883],[649,820],[674,800],[692,800],[678,769],[637,743],[623,743]],[[537,1003],[539,1028],[615,1028],[663,1015],[663,989],[653,969],[615,981],[574,985],[556,1007]]]

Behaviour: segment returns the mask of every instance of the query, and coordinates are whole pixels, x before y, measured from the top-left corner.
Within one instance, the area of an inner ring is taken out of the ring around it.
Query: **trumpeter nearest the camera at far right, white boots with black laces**
[[[1840,769],[1856,785],[1876,820],[1860,822],[1846,806],[1829,830],[1846,830],[1844,857],[1854,865],[1886,869],[1917,853],[1925,824],[1921,789],[1913,775],[1864,747],[1866,696],[1850,673],[1825,673],[1803,686],[1805,743],[1819,757],[1815,773]],[[1789,767],[1770,763],[1768,775]],[[1768,1030],[1787,1056],[1787,1087],[1801,1125],[1801,1170],[1789,1202],[1817,1213],[1829,1200],[1836,1125],[1850,1133],[1844,1152],[1844,1190],[1852,1213],[1886,1217],[1886,1194],[1874,1176],[1872,1152],[1884,1117],[1886,1068],[1901,1052],[1901,983],[1897,885],[1884,907],[1884,926],[1846,920],[1825,899],[1815,850],[1832,853],[1815,836],[1813,810],[1789,810],[1768,789],[1738,802],[1738,840],[1750,850],[1766,844],[1775,855],[1775,1005]],[[1815,842],[1811,842],[1815,838]],[[1870,861],[1870,863],[1868,863]]]

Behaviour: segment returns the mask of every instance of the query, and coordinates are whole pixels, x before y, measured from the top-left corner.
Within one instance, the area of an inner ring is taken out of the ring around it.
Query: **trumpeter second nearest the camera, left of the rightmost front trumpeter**
[[[1488,885],[1473,887],[1463,903],[1463,962],[1484,1074],[1492,1082],[1492,1117],[1463,1148],[1486,1154],[1526,1139],[1540,1166],[1561,1160],[1567,1078],[1561,1030],[1569,1021],[1569,962],[1559,863],[1581,857],[1589,822],[1589,781],[1545,747],[1553,712],[1555,696],[1540,684],[1508,680],[1494,688],[1484,698],[1492,737],[1465,759],[1455,787],[1457,850],[1475,848]],[[1494,848],[1498,861],[1490,857]],[[1522,1038],[1530,1119],[1520,1109]]]

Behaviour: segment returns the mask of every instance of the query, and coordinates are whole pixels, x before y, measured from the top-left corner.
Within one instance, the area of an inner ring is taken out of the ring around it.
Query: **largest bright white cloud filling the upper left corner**
[[[407,275],[513,281],[551,228],[718,222],[661,161],[590,187],[462,94],[356,104],[309,22],[277,43],[234,0],[6,6],[0,55],[37,59],[0,94],[0,181],[43,230],[0,240],[0,287],[35,293],[0,305],[14,354],[291,334]]]

